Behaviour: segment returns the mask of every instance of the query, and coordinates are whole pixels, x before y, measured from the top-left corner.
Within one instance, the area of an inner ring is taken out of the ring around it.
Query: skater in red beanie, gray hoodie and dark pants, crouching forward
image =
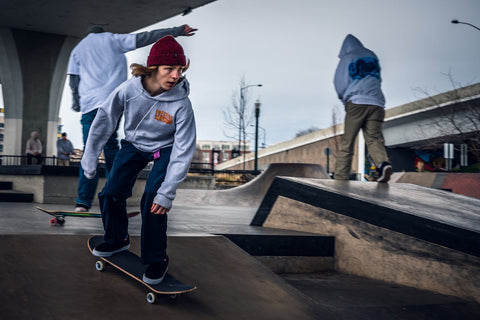
[[[147,66],[132,64],[134,77],[98,109],[81,162],[85,176],[92,179],[98,156],[123,114],[125,139],[98,196],[105,242],[93,254],[108,257],[129,249],[126,199],[132,195],[137,174],[153,161],[140,204],[141,257],[148,265],[143,280],[149,284],[160,283],[167,272],[167,212],[195,151],[195,118],[183,76],[187,68],[183,48],[174,37],[158,40]]]

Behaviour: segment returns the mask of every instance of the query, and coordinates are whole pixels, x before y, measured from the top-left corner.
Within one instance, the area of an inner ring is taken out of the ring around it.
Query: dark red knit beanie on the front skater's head
[[[147,59],[147,66],[185,66],[187,60],[182,46],[172,36],[155,42]]]

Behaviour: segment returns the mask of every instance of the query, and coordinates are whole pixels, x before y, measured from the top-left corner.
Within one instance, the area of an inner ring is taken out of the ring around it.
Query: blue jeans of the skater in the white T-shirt
[[[89,113],[83,114],[81,123],[82,123],[82,133],[83,133],[83,148],[85,150],[85,144],[87,143],[88,132],[92,126],[93,119],[97,114],[98,109],[90,111]],[[117,126],[118,129],[118,126]],[[108,177],[108,173],[112,168],[113,159],[118,152],[118,140],[117,140],[117,129],[108,139],[107,144],[103,148],[103,153],[105,155],[105,172]],[[93,198],[95,197],[95,192],[97,191],[98,185],[98,173],[93,179],[87,179],[83,174],[83,169],[80,166],[79,170],[79,179],[78,179],[78,198],[75,200],[78,204],[83,204],[87,207],[92,206]]]

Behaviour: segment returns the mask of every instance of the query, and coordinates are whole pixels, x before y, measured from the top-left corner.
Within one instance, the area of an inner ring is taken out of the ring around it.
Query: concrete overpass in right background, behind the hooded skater
[[[425,96],[385,112],[383,135],[394,170],[414,171],[411,149],[442,148],[444,142],[453,143],[456,149],[468,140],[478,138],[480,133],[480,83],[454,90]],[[265,169],[269,163],[314,163],[325,166],[325,148],[333,149],[329,158],[330,171],[335,168],[336,148],[343,134],[343,123],[327,129],[284,141],[258,152],[258,168]],[[358,141],[352,172],[362,172],[365,163],[363,136]],[[458,159],[458,152],[455,153]],[[215,166],[216,170],[242,169],[243,157],[231,159]],[[396,162],[397,160],[398,163]],[[245,157],[245,168],[253,170],[254,153]],[[409,165],[409,167],[406,167]]]

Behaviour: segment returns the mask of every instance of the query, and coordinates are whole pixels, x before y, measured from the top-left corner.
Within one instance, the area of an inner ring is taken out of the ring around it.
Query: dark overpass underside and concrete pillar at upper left
[[[22,155],[36,130],[53,154],[68,58],[91,25],[129,33],[215,0],[0,2],[4,154]]]

